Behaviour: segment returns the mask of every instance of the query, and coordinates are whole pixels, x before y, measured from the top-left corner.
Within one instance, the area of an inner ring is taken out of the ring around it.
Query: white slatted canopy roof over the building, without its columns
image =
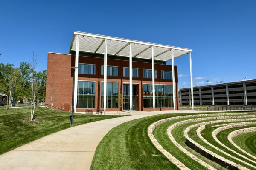
[[[191,49],[174,47],[169,45],[160,45],[150,42],[128,40],[123,38],[109,37],[98,34],[74,31],[73,39],[70,45],[70,51],[76,51],[76,35],[79,36],[79,51],[95,54],[104,54],[104,42],[107,41],[108,55],[129,57],[129,45],[132,47],[132,57],[140,59],[151,59],[154,48],[154,59],[160,61],[169,61],[172,59],[172,49],[174,58],[183,56],[192,52]]]

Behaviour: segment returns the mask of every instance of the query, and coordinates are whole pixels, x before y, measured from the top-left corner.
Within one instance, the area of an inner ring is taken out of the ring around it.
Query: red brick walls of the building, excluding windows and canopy
[[[104,65],[103,58],[96,57],[84,57],[79,56],[79,63],[95,64],[96,65],[96,75],[90,74],[78,74],[78,80],[88,80],[95,81],[96,93],[95,93],[95,109],[100,109],[100,83],[103,82],[104,76],[101,75],[101,65]],[[47,60],[47,86],[46,86],[46,105],[50,103],[51,96],[51,79],[53,79],[53,88],[55,90],[56,99],[54,105],[64,108],[65,111],[71,111],[71,101],[72,101],[72,83],[73,83],[73,70],[70,68],[75,65],[75,56],[69,54],[56,54],[48,53]],[[129,77],[123,77],[123,67],[129,67],[129,61],[108,59],[107,65],[118,66],[118,76],[108,76],[108,82],[118,82],[119,88],[118,92],[121,92],[124,82],[129,82]],[[143,108],[143,84],[152,84],[152,79],[143,78],[143,68],[151,69],[151,63],[145,62],[133,62],[133,68],[139,68],[139,77],[133,77],[133,83],[137,83],[136,91],[136,110],[139,111],[149,111],[153,108]],[[172,65],[160,65],[155,64],[155,70],[157,70],[157,79],[155,79],[155,84],[172,85],[172,80],[161,79],[161,70],[172,71]],[[178,97],[177,97],[177,87],[178,87],[178,77],[177,77],[177,66],[175,66],[175,90],[176,90],[176,108],[178,108]],[[138,89],[137,89],[138,88]],[[138,94],[139,93],[139,94]],[[140,102],[139,102],[140,101]],[[56,108],[55,108],[56,109]],[[162,108],[173,109],[173,108]],[[76,109],[76,111],[84,111],[85,109]],[[159,110],[159,108],[155,108]],[[107,108],[106,111],[117,111],[116,108]]]

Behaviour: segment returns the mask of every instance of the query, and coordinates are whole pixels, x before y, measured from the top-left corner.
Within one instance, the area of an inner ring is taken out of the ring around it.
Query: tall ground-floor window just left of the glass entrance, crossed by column
[[[104,108],[103,103],[103,89],[104,83],[101,82],[101,108]],[[118,104],[116,102],[118,96],[118,83],[117,82],[107,82],[107,101],[106,108],[118,108]]]

